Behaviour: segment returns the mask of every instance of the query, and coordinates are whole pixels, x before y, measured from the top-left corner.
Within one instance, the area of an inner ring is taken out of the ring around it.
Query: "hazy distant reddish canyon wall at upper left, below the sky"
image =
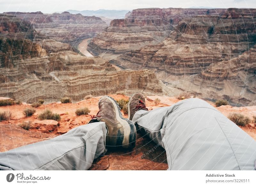
[[[76,42],[90,38],[103,31],[107,24],[95,16],[83,16],[69,12],[43,14],[42,12],[4,12],[31,24],[36,30],[35,38],[53,39],[60,42]]]

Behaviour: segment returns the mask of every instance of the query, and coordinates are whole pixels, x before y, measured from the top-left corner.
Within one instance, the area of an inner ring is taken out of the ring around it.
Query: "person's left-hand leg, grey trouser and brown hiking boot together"
[[[133,148],[136,128],[122,116],[117,102],[99,100],[99,112],[89,124],[50,140],[0,153],[0,170],[87,170],[106,147]]]

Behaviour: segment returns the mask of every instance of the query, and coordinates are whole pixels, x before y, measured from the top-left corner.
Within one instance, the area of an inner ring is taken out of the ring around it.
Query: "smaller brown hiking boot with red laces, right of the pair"
[[[142,93],[136,92],[133,94],[128,102],[128,118],[129,120],[132,120],[135,112],[139,110],[145,110],[148,111],[146,108],[146,102],[145,102],[145,97],[143,96]]]

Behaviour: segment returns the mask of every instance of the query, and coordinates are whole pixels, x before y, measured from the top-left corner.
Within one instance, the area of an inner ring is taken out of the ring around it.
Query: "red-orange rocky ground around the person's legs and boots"
[[[114,99],[129,99],[124,95],[110,95]],[[91,120],[90,115],[76,116],[75,111],[77,108],[88,107],[91,115],[96,115],[98,112],[98,100],[100,97],[93,97],[80,101],[78,103],[51,103],[47,105],[41,105],[36,109],[36,113],[31,117],[25,117],[22,111],[28,105],[12,105],[12,106],[0,106],[0,112],[10,111],[12,112],[13,118],[9,121],[0,122],[0,151],[8,151],[10,149],[36,143],[38,141],[50,139],[57,135],[64,134],[70,129],[78,127],[80,125],[87,124]],[[146,105],[149,110],[156,107],[170,106],[180,101],[175,97],[160,97],[160,96],[148,96]],[[160,103],[155,105],[154,101],[156,98],[160,99]],[[214,105],[213,103],[210,103]],[[43,132],[33,128],[25,130],[19,127],[23,121],[36,121],[37,114],[43,112],[45,109],[49,109],[54,113],[58,113],[61,116],[59,126],[54,131]],[[231,107],[229,105],[220,106],[218,110],[224,115],[228,116],[230,112],[239,112],[244,115],[252,117],[256,115],[256,106],[247,107]],[[127,117],[125,115],[124,117]],[[252,136],[256,140],[256,128],[241,127],[245,132]],[[135,149],[130,150],[116,150],[108,151],[105,156],[101,156],[93,162],[91,170],[166,170],[168,168],[166,161],[166,154],[162,147],[157,146],[156,143],[137,134],[137,144]]]

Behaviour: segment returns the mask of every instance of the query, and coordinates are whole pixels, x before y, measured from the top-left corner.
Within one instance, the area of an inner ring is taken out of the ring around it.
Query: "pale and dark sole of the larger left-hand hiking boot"
[[[122,116],[118,103],[112,98],[107,97],[114,105],[116,112],[116,120],[122,125],[124,129],[124,139],[122,142],[123,148],[134,148],[136,143],[136,127],[131,120],[125,119]]]

